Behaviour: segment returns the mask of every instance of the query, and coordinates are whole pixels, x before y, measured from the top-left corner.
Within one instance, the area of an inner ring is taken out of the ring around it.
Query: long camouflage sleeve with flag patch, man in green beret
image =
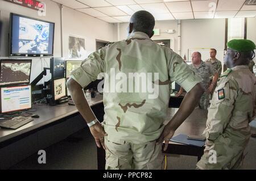
[[[207,129],[204,132],[208,140],[216,140],[225,130],[232,116],[237,92],[236,82],[230,81],[226,77],[221,79],[214,91],[208,112]]]

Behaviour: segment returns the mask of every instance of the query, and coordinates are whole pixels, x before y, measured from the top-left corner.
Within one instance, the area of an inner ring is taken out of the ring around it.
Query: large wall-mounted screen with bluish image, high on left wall
[[[10,14],[10,56],[52,56],[55,24]]]

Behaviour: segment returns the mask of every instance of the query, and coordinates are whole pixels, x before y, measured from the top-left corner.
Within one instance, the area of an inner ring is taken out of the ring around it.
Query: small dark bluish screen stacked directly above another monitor
[[[65,70],[64,70],[65,59],[63,57],[52,57],[51,58],[51,74],[53,79],[64,78]]]

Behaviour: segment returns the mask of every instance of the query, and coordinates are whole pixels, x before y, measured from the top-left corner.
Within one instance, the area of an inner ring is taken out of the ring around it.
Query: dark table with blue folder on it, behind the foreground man
[[[170,108],[168,112],[168,120],[171,119],[177,112],[178,108]],[[195,136],[200,136],[206,127],[207,111],[195,109],[191,115],[180,125],[176,130],[174,136],[177,134],[192,134]],[[167,124],[168,121],[165,122]],[[164,147],[164,145],[163,145]],[[179,144],[176,142],[169,142],[168,149],[163,151],[164,154],[179,154],[179,155],[191,155],[196,156],[200,160],[201,156],[204,154],[204,147],[197,147],[191,145]],[[105,150],[97,148],[98,155],[98,169],[105,169]]]

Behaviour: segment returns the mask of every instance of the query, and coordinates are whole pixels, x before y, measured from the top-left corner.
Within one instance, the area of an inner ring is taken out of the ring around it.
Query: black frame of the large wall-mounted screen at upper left
[[[20,16],[22,18],[27,18],[27,19],[32,19],[32,20],[38,20],[40,22],[44,22],[44,23],[52,23],[53,24],[53,35],[52,35],[52,53],[51,54],[46,54],[46,53],[31,53],[31,54],[27,54],[27,53],[13,53],[13,16]],[[10,42],[10,46],[9,46],[9,56],[10,57],[15,57],[15,56],[20,56],[20,57],[40,57],[40,56],[53,56],[53,51],[54,51],[54,35],[55,35],[55,23],[53,22],[48,22],[47,20],[42,20],[42,19],[38,19],[38,18],[32,18],[30,16],[24,16],[24,15],[20,15],[20,14],[16,14],[11,12],[10,13],[10,28],[9,28],[9,42]]]

